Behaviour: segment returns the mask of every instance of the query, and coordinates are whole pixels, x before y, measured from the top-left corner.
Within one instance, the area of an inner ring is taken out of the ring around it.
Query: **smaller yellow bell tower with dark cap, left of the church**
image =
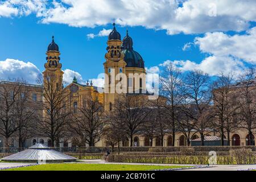
[[[46,60],[47,63],[44,64],[45,71],[43,72],[44,76],[44,84],[48,84],[51,82],[51,85],[55,85],[57,89],[63,88],[63,74],[61,71],[61,63],[60,63],[60,52],[59,46],[54,42],[54,36],[52,36],[52,42],[49,44],[47,52],[46,52]],[[51,79],[51,81],[50,81]],[[54,83],[53,83],[54,82]]]

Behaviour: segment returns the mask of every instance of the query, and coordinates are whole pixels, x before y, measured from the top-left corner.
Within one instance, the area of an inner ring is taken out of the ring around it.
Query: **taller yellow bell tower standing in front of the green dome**
[[[121,35],[115,28],[113,23],[113,31],[110,32],[108,38],[108,51],[105,55],[106,62],[104,63],[105,69],[105,97],[104,97],[104,109],[106,111],[112,110],[115,98],[117,98],[116,86],[122,78],[118,78],[119,73],[125,74],[126,62],[123,60],[125,55],[122,53],[122,41]]]

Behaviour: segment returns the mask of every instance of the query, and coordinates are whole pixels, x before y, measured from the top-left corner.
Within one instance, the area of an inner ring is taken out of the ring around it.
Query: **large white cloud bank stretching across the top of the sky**
[[[9,0],[0,5],[5,6],[0,15],[34,13],[42,23],[96,27],[115,21],[168,34],[243,31],[256,21],[255,0]]]

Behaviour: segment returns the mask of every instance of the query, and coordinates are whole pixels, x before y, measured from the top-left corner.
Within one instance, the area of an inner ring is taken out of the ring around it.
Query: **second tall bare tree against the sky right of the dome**
[[[194,122],[194,129],[200,134],[204,146],[204,136],[209,132],[213,118],[210,78],[202,71],[191,71],[183,82],[183,105],[186,106],[183,111]]]

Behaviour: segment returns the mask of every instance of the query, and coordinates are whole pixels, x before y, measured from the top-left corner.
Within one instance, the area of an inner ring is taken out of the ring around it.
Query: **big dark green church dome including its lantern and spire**
[[[133,39],[128,35],[128,31],[125,38],[123,38],[122,53],[125,55],[126,67],[145,68],[143,58],[133,49]]]

